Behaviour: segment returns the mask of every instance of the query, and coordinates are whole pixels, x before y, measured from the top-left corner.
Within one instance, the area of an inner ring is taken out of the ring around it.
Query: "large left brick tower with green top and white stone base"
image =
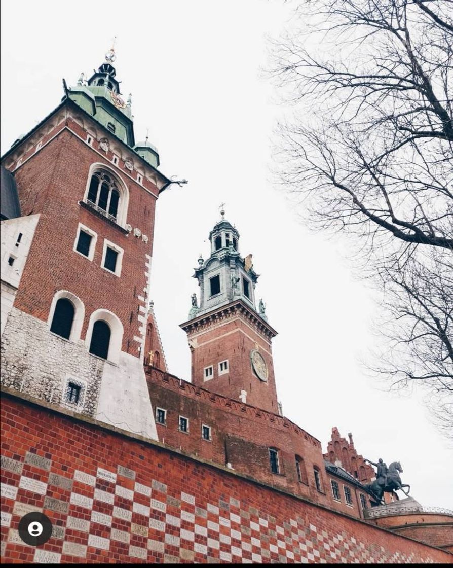
[[[171,182],[135,141],[114,60],[64,82],[60,105],[2,157],[2,383],[156,438],[147,291]]]

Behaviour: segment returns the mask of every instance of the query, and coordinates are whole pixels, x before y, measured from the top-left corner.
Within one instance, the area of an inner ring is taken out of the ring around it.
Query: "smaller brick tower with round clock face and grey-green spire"
[[[265,304],[255,301],[259,274],[252,255],[239,252],[239,233],[225,218],[209,233],[211,253],[201,256],[189,319],[181,324],[192,353],[192,383],[278,414],[271,340]]]

